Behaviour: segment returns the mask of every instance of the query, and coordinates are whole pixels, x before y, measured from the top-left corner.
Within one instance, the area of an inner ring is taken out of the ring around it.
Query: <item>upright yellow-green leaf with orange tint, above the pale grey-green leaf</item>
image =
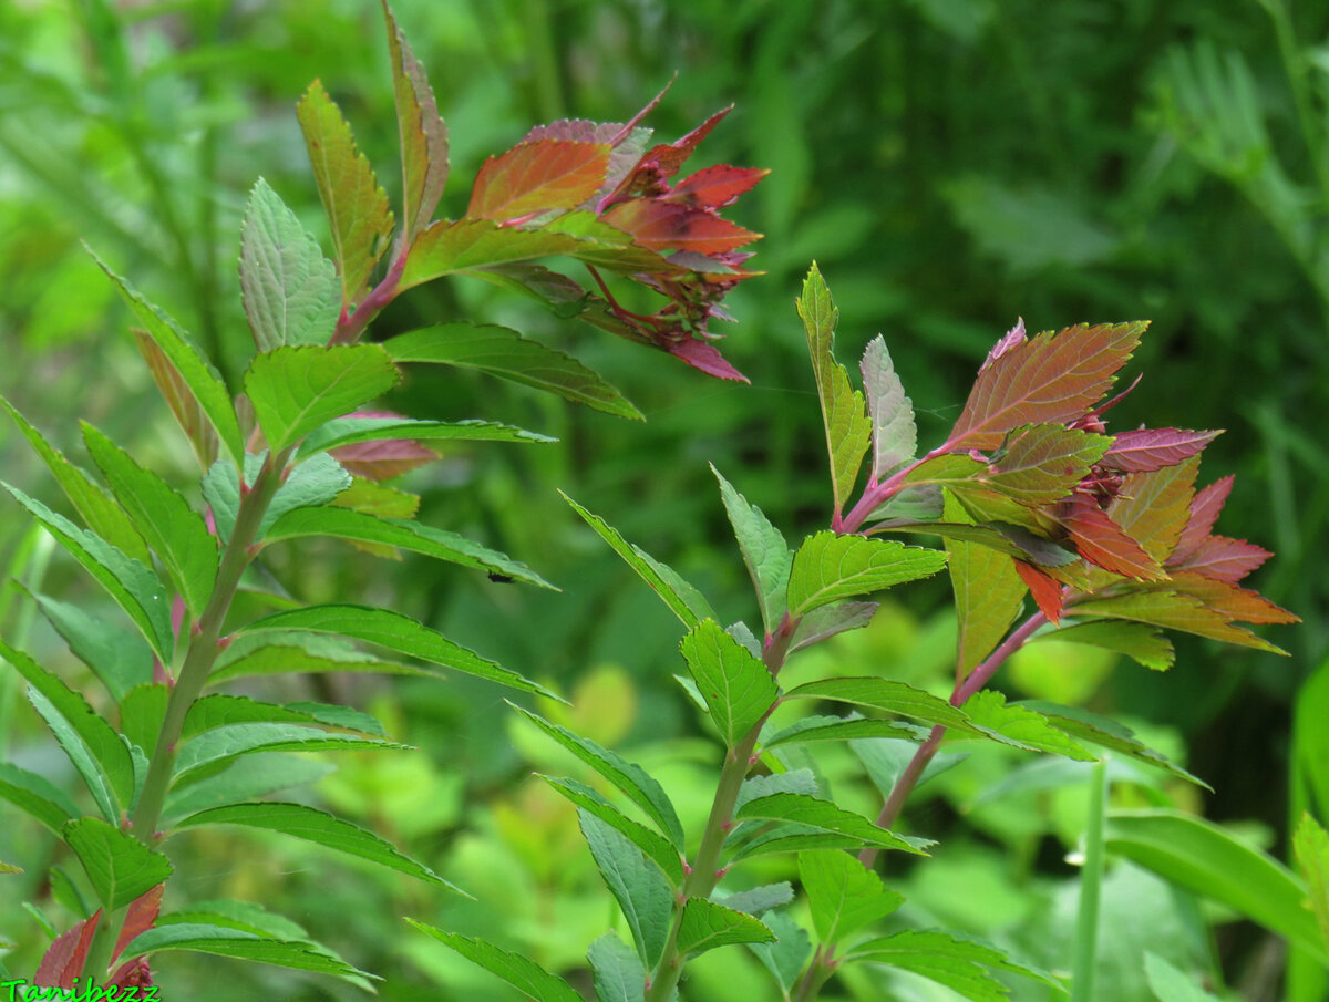
[[[295,116],[332,230],[342,299],[355,303],[392,235],[388,197],[369,161],[356,149],[351,126],[318,80],[295,106]]]

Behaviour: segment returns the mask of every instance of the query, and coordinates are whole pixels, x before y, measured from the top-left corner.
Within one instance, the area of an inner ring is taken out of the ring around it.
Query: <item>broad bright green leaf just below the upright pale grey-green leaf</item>
[[[268,449],[280,452],[324,421],[392,389],[399,376],[377,344],[304,344],[255,355],[245,392]]]

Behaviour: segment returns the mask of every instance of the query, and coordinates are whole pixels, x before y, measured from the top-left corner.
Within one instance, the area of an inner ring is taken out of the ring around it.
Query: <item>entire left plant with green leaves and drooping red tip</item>
[[[485,161],[464,217],[435,219],[448,179],[448,133],[423,68],[385,4],[383,11],[401,137],[400,214],[315,81],[296,113],[327,210],[332,259],[260,179],[241,235],[239,279],[255,353],[239,393],[170,316],[102,264],[198,457],[202,505],[85,424],[84,445],[100,476],[89,474],[4,401],[82,524],[7,484],[9,494],[126,617],[101,621],[31,595],[93,671],[104,688],[97,694],[72,688],[0,641],[0,655],[27,680],[32,706],[85,787],[60,789],[0,764],[0,797],[49,828],[82,866],[77,885],[58,881],[69,885],[62,901],[82,917],[51,945],[36,983],[150,985],[153,955],[195,950],[368,985],[372,975],[262,902],[178,901],[162,910],[173,874],[163,845],[205,827],[282,832],[449,889],[375,833],[307,804],[268,799],[311,779],[306,760],[291,752],[404,747],[377,720],[348,707],[278,704],[226,690],[237,679],[278,672],[441,670],[524,692],[546,690],[400,613],[358,605],[355,595],[292,603],[271,573],[259,573],[263,553],[322,536],[550,587],[502,553],[419,524],[419,498],[381,481],[437,458],[433,447],[552,439],[494,421],[412,420],[365,408],[403,369],[448,365],[609,413],[641,415],[578,360],[504,327],[451,319],[361,343],[388,303],[439,278],[480,278],[536,296],[560,318],[581,318],[711,375],[742,379],[715,348],[719,335],[710,323],[724,315],[726,292],[751,275],[740,247],[758,235],[719,209],[766,171],[720,165],[679,179],[726,112],[662,144],[641,124],[659,97],[623,124],[538,126]],[[540,263],[552,258],[581,262],[586,278]],[[646,287],[659,308],[622,307],[610,291],[618,282]],[[272,611],[237,613],[239,591],[253,599],[246,609],[256,602]]]

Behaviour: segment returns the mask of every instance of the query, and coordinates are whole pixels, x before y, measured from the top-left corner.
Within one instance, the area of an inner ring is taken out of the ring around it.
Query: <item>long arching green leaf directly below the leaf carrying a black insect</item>
[[[502,667],[474,651],[453,643],[437,630],[417,623],[408,615],[387,609],[371,609],[356,605],[310,606],[272,613],[241,629],[241,633],[263,630],[308,630],[351,637],[356,641],[373,643],[397,654],[405,654],[445,668],[464,671],[509,688],[534,692],[550,699],[560,699],[544,686],[532,682],[516,671]]]

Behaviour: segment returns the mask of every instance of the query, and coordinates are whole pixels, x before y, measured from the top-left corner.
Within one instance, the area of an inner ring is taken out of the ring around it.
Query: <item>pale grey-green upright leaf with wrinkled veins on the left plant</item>
[[[336,268],[263,178],[241,226],[241,299],[260,352],[327,344],[342,312]]]

